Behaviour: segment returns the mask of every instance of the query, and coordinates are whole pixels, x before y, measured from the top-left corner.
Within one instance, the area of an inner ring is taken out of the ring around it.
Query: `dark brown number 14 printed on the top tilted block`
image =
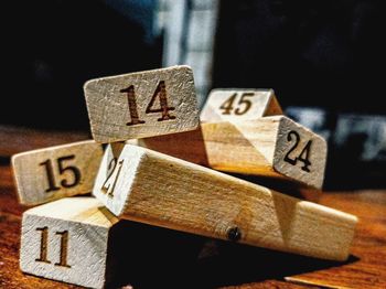
[[[125,89],[120,89],[120,93],[127,93],[127,100],[129,103],[129,111],[130,111],[130,118],[131,120],[127,122],[127,126],[133,126],[133,125],[140,125],[144,124],[144,120],[139,119],[138,116],[138,109],[137,109],[137,100],[136,100],[136,90],[135,86],[130,85],[129,87]],[[160,108],[153,108],[156,98],[159,97],[160,99]],[[174,107],[168,106],[168,97],[167,97],[167,86],[164,84],[164,81],[161,81],[153,94],[153,96],[150,99],[150,103],[148,107],[146,108],[146,114],[156,114],[161,113],[161,117],[157,119],[158,121],[169,120],[169,119],[175,119],[175,116],[171,116],[169,114],[169,110],[174,110]]]

